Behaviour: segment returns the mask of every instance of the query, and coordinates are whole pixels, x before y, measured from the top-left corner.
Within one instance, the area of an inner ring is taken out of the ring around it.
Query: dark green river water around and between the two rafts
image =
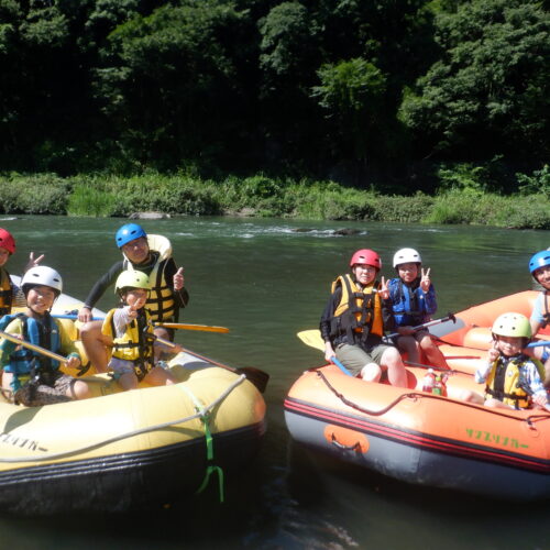
[[[31,250],[46,254],[65,292],[84,298],[120,258],[120,219],[0,217],[18,252],[19,274]],[[170,239],[185,267],[186,322],[220,324],[228,334],[179,331],[178,341],[234,366],[271,374],[268,429],[257,460],[227,480],[227,502],[202,494],[157,513],[22,519],[0,516],[1,547],[466,549],[550,548],[550,504],[518,505],[409,486],[336,463],[289,439],[283,400],[300,373],[322,363],[300,330],[317,328],[330,283],[353,251],[372,248],[392,275],[393,253],[419,250],[431,267],[439,315],[531,287],[527,262],[550,245],[549,231],[454,226],[182,218],[144,221]],[[339,229],[354,230],[341,237]],[[99,302],[114,304],[110,292]]]

